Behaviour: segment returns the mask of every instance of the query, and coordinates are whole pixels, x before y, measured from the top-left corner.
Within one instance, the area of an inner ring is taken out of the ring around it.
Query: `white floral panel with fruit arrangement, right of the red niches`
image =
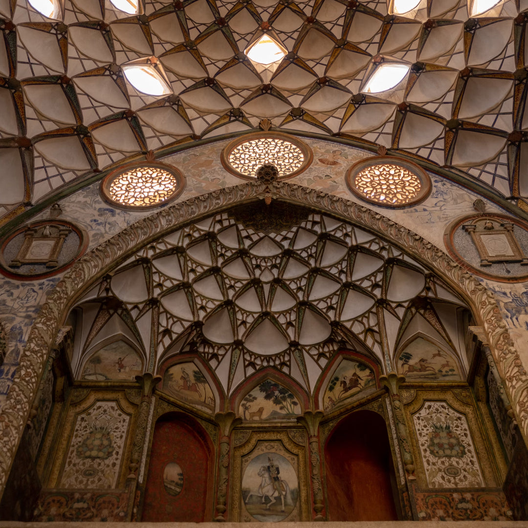
[[[485,485],[464,414],[446,402],[426,401],[413,421],[429,487]]]

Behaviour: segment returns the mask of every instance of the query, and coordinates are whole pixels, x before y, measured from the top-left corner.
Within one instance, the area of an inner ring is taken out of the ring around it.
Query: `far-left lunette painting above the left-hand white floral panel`
[[[120,340],[93,353],[84,363],[81,379],[135,381],[142,372],[142,361],[134,348]]]

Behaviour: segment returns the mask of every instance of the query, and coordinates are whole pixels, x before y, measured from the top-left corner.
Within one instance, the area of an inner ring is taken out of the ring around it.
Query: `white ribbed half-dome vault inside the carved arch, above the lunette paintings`
[[[259,202],[150,243],[95,285],[76,307],[73,371],[126,340],[151,372],[199,354],[227,394],[265,367],[312,392],[338,350],[389,372],[417,336],[467,366],[468,312],[443,281],[341,220]]]

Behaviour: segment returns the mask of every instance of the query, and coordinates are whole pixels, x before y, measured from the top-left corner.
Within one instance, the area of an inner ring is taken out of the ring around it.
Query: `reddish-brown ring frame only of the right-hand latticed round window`
[[[421,188],[416,197],[402,204],[383,203],[378,200],[369,198],[368,196],[365,196],[364,193],[362,193],[359,189],[356,188],[354,184],[354,179],[361,171],[363,171],[365,168],[372,167],[375,165],[383,165],[385,163],[391,165],[400,165],[401,167],[406,168],[408,171],[412,172],[418,177],[418,180],[420,180]],[[348,169],[348,171],[346,171],[345,181],[348,190],[350,190],[360,200],[362,200],[363,202],[370,203],[372,205],[377,205],[385,209],[404,209],[406,207],[416,205],[420,202],[423,202],[423,200],[425,200],[431,192],[431,178],[419,165],[409,162],[407,161],[407,159],[402,159],[394,156],[373,156],[370,158],[362,159],[357,163],[354,163],[354,165],[352,165]]]

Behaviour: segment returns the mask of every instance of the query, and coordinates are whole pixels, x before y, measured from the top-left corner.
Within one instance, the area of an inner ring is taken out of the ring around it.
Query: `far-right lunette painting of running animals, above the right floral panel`
[[[398,357],[398,373],[408,380],[460,380],[454,357],[437,345],[417,337]]]

